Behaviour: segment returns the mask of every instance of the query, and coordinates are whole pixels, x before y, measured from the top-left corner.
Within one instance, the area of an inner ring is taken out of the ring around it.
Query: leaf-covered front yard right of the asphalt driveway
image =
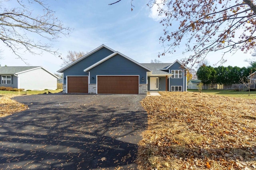
[[[140,169],[256,168],[256,100],[193,92],[147,96]]]

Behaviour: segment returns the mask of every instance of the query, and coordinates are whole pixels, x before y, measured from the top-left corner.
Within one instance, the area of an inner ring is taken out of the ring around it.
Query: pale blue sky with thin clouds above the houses
[[[156,10],[149,9],[146,5],[149,0],[134,0],[134,10],[131,11],[131,1],[122,0],[109,6],[115,0],[48,0],[47,3],[55,11],[55,15],[63,21],[64,25],[72,27],[74,31],[69,37],[62,36],[54,42],[53,49],[58,49],[62,57],[68,51],[89,52],[96,47],[106,46],[123,53],[139,63],[150,63],[158,59],[163,63],[172,63],[176,59],[188,56],[182,55],[184,47],[176,49],[176,53],[157,57],[158,52],[164,51],[159,37],[163,35],[164,27],[159,23]],[[11,2],[4,2],[6,7],[12,6]],[[34,12],[37,9],[31,9]],[[27,66],[15,56],[8,48],[0,45],[4,59],[0,60],[2,66]],[[217,63],[221,52],[208,55],[210,65]],[[30,66],[43,66],[56,73],[61,68],[62,60],[49,53],[31,55],[24,53],[22,57]],[[238,51],[235,55],[227,54],[228,61],[224,66],[248,66],[244,59],[251,54]],[[219,64],[218,64],[219,65]],[[218,66],[217,65],[217,66]]]

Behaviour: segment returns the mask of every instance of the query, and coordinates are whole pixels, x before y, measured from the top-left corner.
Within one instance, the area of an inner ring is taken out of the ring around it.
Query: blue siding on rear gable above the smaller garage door
[[[78,63],[64,70],[63,77],[66,78],[66,76],[88,76],[88,72],[84,72],[84,69],[88,68],[92,64],[97,63],[98,61],[104,59],[112,53],[114,52],[103,47],[102,49],[96,51],[95,53],[92,53],[88,57],[82,59]],[[66,80],[64,80],[64,84],[66,84]]]

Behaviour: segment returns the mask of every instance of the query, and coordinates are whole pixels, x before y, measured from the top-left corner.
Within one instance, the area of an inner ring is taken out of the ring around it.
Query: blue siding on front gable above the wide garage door
[[[90,72],[90,84],[96,84],[96,75],[139,75],[139,83],[147,83],[147,70],[119,54],[111,57],[110,59],[88,71]],[[94,79],[92,79],[92,77]],[[144,77],[144,81],[142,81],[142,77]]]

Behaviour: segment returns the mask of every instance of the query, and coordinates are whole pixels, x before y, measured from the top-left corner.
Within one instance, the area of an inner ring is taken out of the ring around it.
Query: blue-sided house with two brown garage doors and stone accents
[[[92,50],[57,72],[64,93],[146,94],[148,91],[186,91],[186,66],[138,63],[106,45]]]

